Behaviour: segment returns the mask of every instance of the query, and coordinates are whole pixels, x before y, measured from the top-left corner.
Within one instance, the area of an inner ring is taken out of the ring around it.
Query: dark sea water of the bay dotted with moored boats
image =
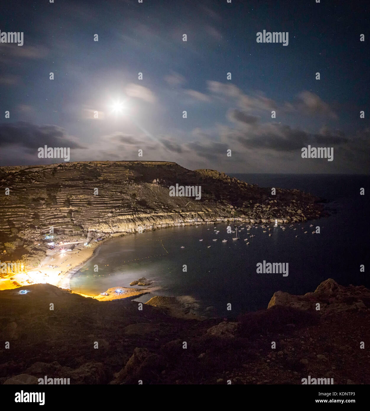
[[[226,223],[216,224],[220,230],[217,235],[213,224],[205,224],[198,228],[171,227],[114,238],[99,247],[93,258],[72,277],[72,289],[78,291],[81,286],[82,293],[96,295],[146,277],[153,285],[150,294],[138,299],[142,302],[155,295],[182,296],[184,302],[193,304],[201,314],[233,317],[266,308],[275,291],[304,294],[315,291],[321,281],[330,277],[343,285],[370,288],[367,273],[370,268],[369,176],[234,176],[260,187],[310,192],[327,200],[325,207],[332,210],[331,214],[294,224],[292,228],[286,224],[285,231],[272,226],[271,237],[268,229],[260,226],[250,231],[244,229],[239,241],[231,239],[234,234],[227,234]],[[361,187],[365,188],[365,196],[360,196]],[[310,224],[314,227],[309,227]],[[320,234],[312,234],[316,226],[320,226]],[[249,234],[254,237],[246,245],[243,239]],[[215,238],[217,241],[213,241]],[[223,239],[228,240],[227,243],[222,243]],[[264,260],[289,263],[289,275],[257,274],[256,264]],[[97,273],[93,272],[95,264],[99,267]],[[184,264],[187,272],[183,272]],[[365,272],[360,272],[361,264],[365,265]],[[231,303],[231,312],[226,310],[227,303]],[[203,311],[206,307],[214,309]]]

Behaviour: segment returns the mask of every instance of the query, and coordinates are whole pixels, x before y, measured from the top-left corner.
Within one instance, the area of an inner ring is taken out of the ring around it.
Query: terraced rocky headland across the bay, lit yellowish
[[[317,218],[317,198],[261,188],[215,170],[172,162],[76,162],[0,167],[0,242],[43,234],[127,233],[176,224],[242,218],[294,222]],[[201,186],[201,199],[169,196],[172,185]]]

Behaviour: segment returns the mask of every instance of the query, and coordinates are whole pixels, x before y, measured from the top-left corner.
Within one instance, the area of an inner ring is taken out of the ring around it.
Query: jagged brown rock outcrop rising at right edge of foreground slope
[[[318,314],[343,311],[370,311],[370,291],[364,286],[341,286],[332,278],[323,281],[313,293],[293,296],[283,291],[274,293],[268,308],[280,305],[302,310],[315,310]]]

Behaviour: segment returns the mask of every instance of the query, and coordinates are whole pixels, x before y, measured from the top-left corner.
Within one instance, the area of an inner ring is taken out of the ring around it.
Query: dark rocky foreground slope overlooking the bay
[[[370,383],[364,287],[328,279],[305,296],[279,291],[268,309],[227,322],[174,318],[146,304],[139,311],[128,299],[98,302],[49,284],[23,288],[0,291],[0,383],[45,375],[71,384],[301,384],[309,375]]]

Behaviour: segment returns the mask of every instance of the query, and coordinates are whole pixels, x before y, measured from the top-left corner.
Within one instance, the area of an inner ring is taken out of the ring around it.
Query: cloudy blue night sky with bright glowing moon
[[[0,44],[0,165],[62,162],[38,158],[47,145],[69,147],[70,161],[368,174],[369,9],[354,0],[2,1],[1,32],[23,32],[24,44]],[[289,32],[289,44],[257,43],[263,30]],[[333,161],[302,159],[309,144],[333,147]]]

